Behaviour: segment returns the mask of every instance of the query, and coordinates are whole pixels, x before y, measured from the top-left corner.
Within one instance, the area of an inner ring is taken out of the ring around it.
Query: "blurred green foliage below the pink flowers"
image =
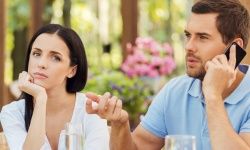
[[[90,77],[84,91],[100,95],[110,92],[117,96],[132,120],[136,120],[139,114],[146,111],[146,100],[151,95],[150,89],[139,78],[128,78],[120,71],[109,71]]]

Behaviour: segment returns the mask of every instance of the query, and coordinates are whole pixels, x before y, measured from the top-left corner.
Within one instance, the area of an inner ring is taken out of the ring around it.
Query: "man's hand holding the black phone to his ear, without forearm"
[[[206,75],[202,82],[205,98],[218,96],[222,98],[224,90],[234,82],[237,73],[235,68],[243,58],[240,61],[237,60],[236,48],[237,45],[233,43],[226,50],[226,54],[217,55],[206,62]]]

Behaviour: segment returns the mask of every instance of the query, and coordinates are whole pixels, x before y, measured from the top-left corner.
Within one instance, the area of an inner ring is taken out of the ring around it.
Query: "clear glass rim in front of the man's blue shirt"
[[[165,137],[165,150],[196,150],[195,136],[167,135]]]

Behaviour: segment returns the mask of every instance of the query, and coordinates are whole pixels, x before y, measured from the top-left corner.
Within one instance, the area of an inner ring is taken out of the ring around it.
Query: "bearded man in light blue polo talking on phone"
[[[87,111],[111,122],[111,148],[159,150],[166,135],[187,134],[198,150],[250,149],[250,71],[234,69],[235,45],[229,61],[224,55],[232,42],[246,48],[249,18],[238,0],[195,3],[185,29],[187,75],[162,88],[133,133],[118,98],[88,94]]]

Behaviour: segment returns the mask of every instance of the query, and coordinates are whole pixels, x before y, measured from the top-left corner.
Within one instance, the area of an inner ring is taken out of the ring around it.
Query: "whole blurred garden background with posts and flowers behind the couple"
[[[250,8],[249,0],[242,0]],[[193,0],[0,0],[0,102],[14,100],[25,50],[39,27],[58,23],[83,40],[83,92],[120,97],[135,123],[171,78],[185,73],[183,30]],[[248,50],[249,51],[249,50]],[[249,55],[245,59],[250,63]]]

